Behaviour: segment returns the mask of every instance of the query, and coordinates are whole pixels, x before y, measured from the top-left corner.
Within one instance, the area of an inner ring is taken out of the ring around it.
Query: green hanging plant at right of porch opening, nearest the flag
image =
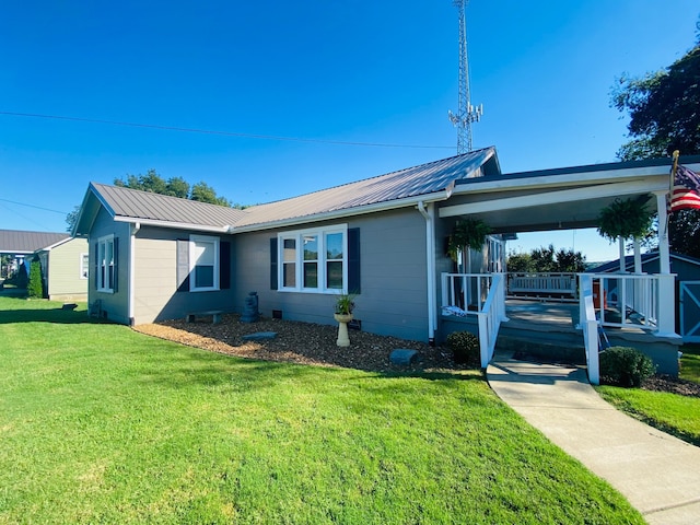
[[[598,233],[609,240],[617,241],[641,238],[652,226],[653,211],[646,208],[651,195],[642,195],[635,199],[615,199],[600,210],[598,214]]]

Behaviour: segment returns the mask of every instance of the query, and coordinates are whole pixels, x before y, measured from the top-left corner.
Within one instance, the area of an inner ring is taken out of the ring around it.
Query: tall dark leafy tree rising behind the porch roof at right
[[[622,77],[612,89],[612,105],[628,113],[630,140],[618,158],[641,160],[700,154],[700,22],[695,47],[669,67],[641,78]],[[679,254],[700,257],[700,210],[669,218],[668,244]]]

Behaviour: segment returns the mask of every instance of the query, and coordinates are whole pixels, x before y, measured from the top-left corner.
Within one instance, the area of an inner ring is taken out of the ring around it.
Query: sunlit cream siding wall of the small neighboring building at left
[[[72,238],[47,253],[48,299],[88,299],[89,279],[83,278],[80,272],[83,254],[88,254],[88,241],[84,238]]]

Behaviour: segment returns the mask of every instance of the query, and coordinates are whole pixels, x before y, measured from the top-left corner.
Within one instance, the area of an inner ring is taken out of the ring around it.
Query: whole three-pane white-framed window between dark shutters
[[[346,290],[347,226],[284,232],[278,236],[280,290],[329,293]]]

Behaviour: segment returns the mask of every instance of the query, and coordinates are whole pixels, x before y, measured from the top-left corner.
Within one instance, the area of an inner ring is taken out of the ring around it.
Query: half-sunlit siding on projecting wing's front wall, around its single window
[[[137,233],[133,275],[135,324],[184,318],[188,313],[196,312],[235,310],[233,288],[207,292],[177,291],[177,240],[188,240],[190,233],[201,235],[201,232],[148,226]],[[220,243],[235,243],[231,236],[207,235],[218,237]]]

